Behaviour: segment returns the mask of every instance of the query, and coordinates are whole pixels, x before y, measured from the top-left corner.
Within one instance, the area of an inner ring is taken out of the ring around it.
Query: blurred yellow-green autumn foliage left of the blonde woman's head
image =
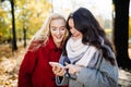
[[[4,1],[2,3],[4,3]],[[7,9],[11,7],[1,4],[0,41],[3,41],[12,37],[12,15],[11,9]],[[10,5],[9,3],[4,4]],[[27,38],[32,38],[49,15],[51,3],[49,3],[48,0],[15,0],[14,4],[16,38],[23,38],[23,28],[26,29]]]

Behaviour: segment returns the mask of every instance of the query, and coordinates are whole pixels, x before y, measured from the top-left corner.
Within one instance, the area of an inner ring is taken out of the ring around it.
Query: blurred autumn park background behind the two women
[[[80,7],[91,10],[115,44],[119,86],[131,86],[130,0],[0,0],[0,87],[17,86],[26,47],[49,14],[56,12],[67,18]]]

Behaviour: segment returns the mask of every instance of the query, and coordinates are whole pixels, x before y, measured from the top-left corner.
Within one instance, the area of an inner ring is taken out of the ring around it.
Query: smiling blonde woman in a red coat
[[[33,37],[19,72],[19,87],[58,87],[49,62],[58,62],[68,36],[66,20],[53,13]]]

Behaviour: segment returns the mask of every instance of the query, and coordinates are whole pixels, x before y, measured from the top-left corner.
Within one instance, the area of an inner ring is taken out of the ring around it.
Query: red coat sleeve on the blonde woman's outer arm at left
[[[27,51],[20,66],[17,87],[33,87],[32,73],[35,69],[35,64],[36,64],[35,52]]]

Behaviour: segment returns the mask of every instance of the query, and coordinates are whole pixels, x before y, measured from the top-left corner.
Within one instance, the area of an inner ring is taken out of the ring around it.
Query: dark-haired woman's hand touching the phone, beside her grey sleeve
[[[64,69],[68,69],[69,74],[76,74],[76,73],[79,73],[81,71],[82,66],[66,63]]]

